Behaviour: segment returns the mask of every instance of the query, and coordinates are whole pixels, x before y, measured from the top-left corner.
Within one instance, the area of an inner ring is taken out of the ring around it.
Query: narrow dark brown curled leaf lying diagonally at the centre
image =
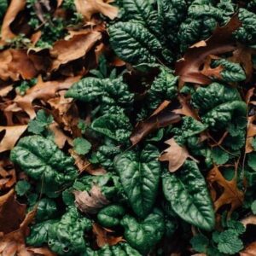
[[[167,101],[161,103],[160,107],[157,108],[148,119],[137,123],[130,138],[133,146],[139,143],[144,137],[148,136],[149,133],[181,120],[179,114],[173,113],[173,111],[167,108],[170,103],[171,102]]]

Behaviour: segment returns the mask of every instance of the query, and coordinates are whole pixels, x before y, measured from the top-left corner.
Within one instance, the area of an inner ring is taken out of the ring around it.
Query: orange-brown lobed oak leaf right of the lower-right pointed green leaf
[[[232,180],[226,180],[221,172],[218,170],[218,166],[214,166],[212,170],[207,175],[207,182],[212,195],[212,201],[214,202],[214,208],[217,212],[218,209],[224,205],[230,205],[230,210],[228,216],[236,210],[236,208],[241,207],[244,193],[237,188],[237,166],[235,168],[235,176]],[[214,185],[220,186],[223,189],[222,194],[218,197]]]

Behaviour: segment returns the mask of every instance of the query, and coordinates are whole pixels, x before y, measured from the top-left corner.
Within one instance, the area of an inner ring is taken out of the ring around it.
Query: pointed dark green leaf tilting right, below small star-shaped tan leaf
[[[212,201],[207,184],[195,162],[187,160],[181,170],[163,177],[166,200],[173,210],[190,224],[212,230],[215,224]]]

